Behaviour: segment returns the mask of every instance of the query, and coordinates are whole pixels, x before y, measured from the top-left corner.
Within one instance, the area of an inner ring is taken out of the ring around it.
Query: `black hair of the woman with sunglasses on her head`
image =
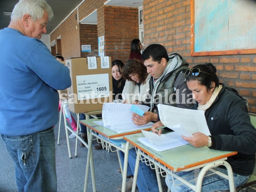
[[[197,76],[193,76],[192,73],[190,72],[186,77],[186,81],[198,80],[198,83],[200,85],[206,86],[207,90],[212,89],[212,82],[215,83],[216,87],[219,86],[220,84],[219,78],[216,75],[216,67],[213,64],[211,63],[199,64],[194,66],[193,68],[198,68],[201,72],[199,72]]]

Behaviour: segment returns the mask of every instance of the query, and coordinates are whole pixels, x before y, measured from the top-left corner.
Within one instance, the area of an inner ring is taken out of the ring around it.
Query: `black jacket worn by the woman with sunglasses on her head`
[[[255,164],[256,129],[242,98],[222,85],[216,100],[204,114],[212,134],[212,149],[237,151],[227,162],[234,173],[250,175]],[[192,106],[197,107],[198,103]]]

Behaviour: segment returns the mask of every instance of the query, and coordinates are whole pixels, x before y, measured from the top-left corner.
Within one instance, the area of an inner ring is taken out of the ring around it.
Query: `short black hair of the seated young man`
[[[151,44],[142,52],[143,61],[150,57],[153,61],[157,61],[158,63],[161,62],[162,58],[165,58],[167,62],[169,60],[166,48],[160,44]]]

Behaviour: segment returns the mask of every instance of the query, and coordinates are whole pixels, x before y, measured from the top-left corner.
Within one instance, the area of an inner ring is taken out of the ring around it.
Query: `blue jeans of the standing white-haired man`
[[[2,135],[15,164],[18,192],[56,192],[54,130],[25,136]]]

